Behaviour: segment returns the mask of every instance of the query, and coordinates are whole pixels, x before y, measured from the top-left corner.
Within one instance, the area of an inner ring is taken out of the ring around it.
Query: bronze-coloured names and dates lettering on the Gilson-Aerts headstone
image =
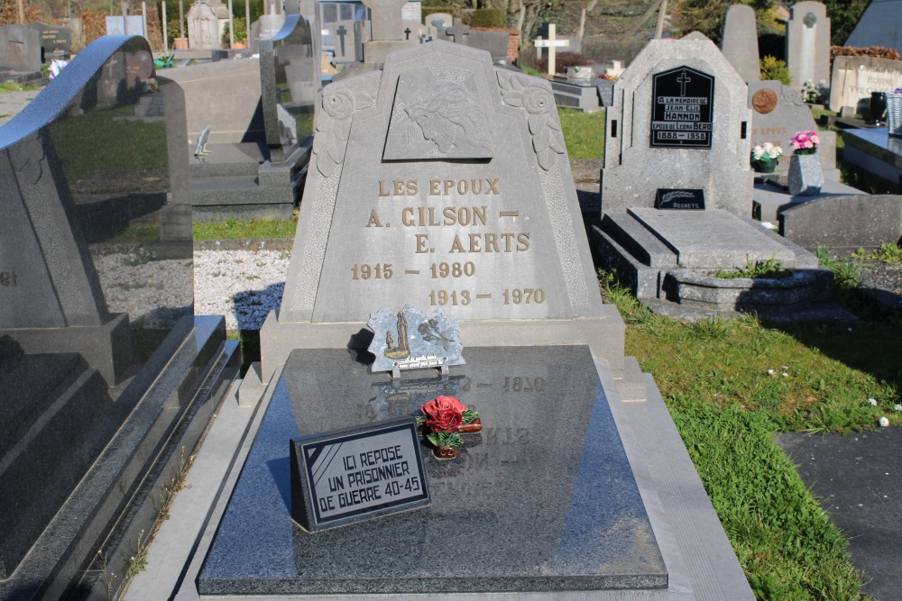
[[[355,263],[353,280],[407,278],[474,278],[480,257],[518,255],[532,250],[530,232],[517,223],[519,210],[507,210],[500,178],[380,179],[373,192],[376,203],[363,223],[367,231],[400,231],[409,246],[405,254],[436,257],[426,269],[397,269],[390,262]],[[413,230],[416,230],[415,232]],[[424,231],[425,230],[425,231]],[[458,259],[458,257],[460,259]],[[548,297],[541,287],[509,287],[491,291],[435,289],[427,293],[429,305],[467,306],[476,300],[503,305],[540,305]]]

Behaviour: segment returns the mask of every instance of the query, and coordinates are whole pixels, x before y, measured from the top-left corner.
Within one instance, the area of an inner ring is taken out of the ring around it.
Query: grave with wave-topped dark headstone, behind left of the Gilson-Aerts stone
[[[192,150],[210,127],[207,154],[190,161],[195,221],[290,219],[312,145],[321,77],[316,31],[304,14],[290,14],[280,32],[259,42],[259,59],[172,69],[188,97]]]

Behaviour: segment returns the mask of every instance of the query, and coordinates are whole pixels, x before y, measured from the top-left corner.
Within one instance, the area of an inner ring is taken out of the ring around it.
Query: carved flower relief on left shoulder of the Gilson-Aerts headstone
[[[351,116],[355,110],[373,105],[373,97],[354,94],[346,87],[328,87],[323,93],[323,112],[317,120],[317,135],[313,136],[313,152],[317,155],[317,169],[328,178],[345,161],[347,138],[351,133]]]

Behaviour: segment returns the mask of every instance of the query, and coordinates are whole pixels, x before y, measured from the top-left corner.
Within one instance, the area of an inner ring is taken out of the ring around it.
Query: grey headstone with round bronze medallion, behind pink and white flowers
[[[792,147],[789,141],[796,132],[817,132],[815,118],[795,87],[778,81],[750,81],[749,105],[751,114],[751,145],[770,142],[783,149],[776,173],[788,173]],[[824,178],[839,181],[836,168],[836,132],[819,132],[821,147],[817,150],[824,168]]]

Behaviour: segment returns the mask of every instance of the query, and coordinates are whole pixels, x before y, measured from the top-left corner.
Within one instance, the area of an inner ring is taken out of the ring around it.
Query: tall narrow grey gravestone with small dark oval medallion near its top
[[[786,56],[792,85],[819,84],[830,79],[830,19],[820,2],[799,2],[787,21]],[[870,44],[869,44],[870,45]]]

